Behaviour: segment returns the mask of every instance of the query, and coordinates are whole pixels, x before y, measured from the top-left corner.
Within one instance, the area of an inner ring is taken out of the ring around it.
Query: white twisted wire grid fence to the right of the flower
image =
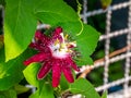
[[[86,0],[84,0],[84,1],[86,1]],[[86,7],[84,5],[84,8],[86,8]],[[111,12],[120,10],[120,9],[124,9],[124,8],[129,8],[128,27],[110,33]],[[98,10],[90,11],[90,12],[86,12],[86,13],[83,11],[83,14],[81,16],[85,21],[85,19],[87,19],[90,16],[94,16],[94,15],[97,15],[97,14],[103,14],[103,13],[106,13],[106,12],[107,12],[106,34],[102,35],[100,38],[99,38],[99,41],[105,40],[105,62],[104,61],[103,62],[97,62],[92,66],[84,65],[84,66],[81,68],[81,73],[84,72],[86,69],[90,69],[90,68],[98,69],[100,66],[104,66],[104,69],[105,69],[104,70],[104,85],[100,85],[99,87],[96,87],[96,90],[102,91],[102,90],[108,89],[110,87],[114,87],[116,85],[123,84],[123,88],[124,88],[123,96],[124,96],[124,98],[127,98],[127,97],[129,98],[130,93],[128,91],[128,89],[129,89],[129,82],[131,81],[131,76],[129,75],[130,63],[131,63],[131,60],[130,60],[130,58],[131,58],[130,50],[131,49],[128,49],[126,53],[116,56],[116,57],[110,58],[110,59],[109,59],[108,54],[109,54],[109,48],[110,48],[110,39],[114,38],[114,37],[118,37],[118,36],[121,36],[121,35],[127,35],[127,46],[131,45],[131,0],[121,2],[119,4],[110,5],[106,10],[98,9]],[[114,81],[112,83],[108,83],[108,71],[109,71],[108,66],[111,65],[111,63],[120,61],[120,60],[126,60],[124,77],[122,77],[120,79],[117,79],[117,81]],[[131,95],[130,95],[130,97],[131,97]]]

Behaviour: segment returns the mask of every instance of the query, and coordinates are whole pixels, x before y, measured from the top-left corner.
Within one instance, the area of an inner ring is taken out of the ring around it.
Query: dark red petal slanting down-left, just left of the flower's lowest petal
[[[46,62],[39,70],[38,74],[37,74],[37,78],[41,79],[44,78],[49,71],[51,70],[51,64],[49,62]]]

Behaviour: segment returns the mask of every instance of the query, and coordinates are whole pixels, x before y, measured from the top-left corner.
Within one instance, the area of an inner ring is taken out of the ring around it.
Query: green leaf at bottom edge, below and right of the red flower
[[[86,98],[100,98],[93,85],[84,78],[76,79],[70,85],[71,93],[82,94]]]

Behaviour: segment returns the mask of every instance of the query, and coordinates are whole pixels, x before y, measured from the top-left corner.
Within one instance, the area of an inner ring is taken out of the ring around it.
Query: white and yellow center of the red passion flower
[[[62,41],[59,39],[56,39],[50,46],[50,50],[52,53],[52,57],[56,58],[67,58],[72,50],[70,49],[70,45],[73,42],[67,42],[66,37],[63,37],[63,33],[60,34],[62,37]],[[75,46],[74,46],[75,47]]]

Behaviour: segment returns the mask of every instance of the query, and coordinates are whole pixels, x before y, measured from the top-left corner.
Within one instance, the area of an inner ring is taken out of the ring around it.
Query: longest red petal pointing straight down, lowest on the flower
[[[60,76],[61,76],[61,65],[59,64],[59,62],[57,62],[52,66],[52,86],[53,87],[57,87],[59,85]]]

